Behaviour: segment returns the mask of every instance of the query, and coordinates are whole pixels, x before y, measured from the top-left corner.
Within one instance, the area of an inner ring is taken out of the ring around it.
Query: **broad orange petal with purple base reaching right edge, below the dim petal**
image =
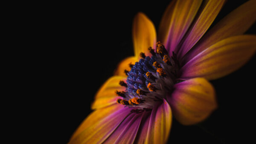
[[[243,66],[255,51],[255,35],[229,37],[205,49],[186,63],[180,69],[180,78],[221,78]]]

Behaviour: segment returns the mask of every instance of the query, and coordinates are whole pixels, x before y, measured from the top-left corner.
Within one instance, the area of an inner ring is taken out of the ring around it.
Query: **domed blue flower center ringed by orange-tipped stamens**
[[[156,52],[151,47],[148,48],[152,56],[142,57],[134,65],[130,64],[131,71],[125,70],[127,84],[120,81],[121,86],[125,86],[125,91],[116,91],[121,96],[117,103],[134,107],[133,112],[143,112],[152,109],[158,102],[163,102],[163,98],[172,92],[172,87],[176,83],[178,72],[177,58],[173,53],[170,58],[167,50],[160,42],[157,42]]]

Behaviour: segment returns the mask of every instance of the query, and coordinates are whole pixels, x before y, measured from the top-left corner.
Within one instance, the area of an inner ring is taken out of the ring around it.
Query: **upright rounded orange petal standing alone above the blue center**
[[[146,56],[151,55],[148,48],[155,49],[157,35],[154,24],[145,14],[139,12],[134,17],[132,35],[135,57],[139,59],[141,52]]]

